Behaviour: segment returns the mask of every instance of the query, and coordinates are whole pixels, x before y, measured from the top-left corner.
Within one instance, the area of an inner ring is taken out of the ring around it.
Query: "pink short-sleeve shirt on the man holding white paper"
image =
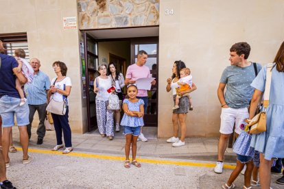
[[[137,64],[132,64],[128,66],[126,71],[126,78],[136,81],[140,78],[150,77],[150,69],[143,65],[138,66]],[[147,97],[147,90],[139,89],[137,97]]]

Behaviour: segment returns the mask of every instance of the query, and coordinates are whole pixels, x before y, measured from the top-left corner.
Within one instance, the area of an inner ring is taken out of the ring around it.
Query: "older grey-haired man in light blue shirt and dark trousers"
[[[29,125],[27,125],[27,134],[29,138],[32,136],[32,121],[34,113],[38,111],[39,124],[36,134],[38,134],[38,142],[43,144],[45,137],[45,110],[47,108],[47,92],[50,87],[49,77],[40,71],[40,61],[37,58],[32,58],[29,61],[34,69],[34,79],[31,84],[25,84],[25,93],[27,95],[27,103],[29,104]]]

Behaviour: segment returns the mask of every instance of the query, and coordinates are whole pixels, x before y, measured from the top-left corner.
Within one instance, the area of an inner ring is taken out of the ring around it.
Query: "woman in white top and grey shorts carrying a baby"
[[[167,79],[167,87],[166,90],[169,92],[170,90],[173,91],[174,102],[176,101],[176,88],[178,88],[178,79],[180,79],[180,70],[182,68],[186,68],[185,63],[182,61],[174,62],[174,66],[172,68],[173,75],[171,78]],[[196,90],[196,85],[192,84],[191,89],[187,91],[180,92],[181,95],[185,95],[185,93],[192,92]],[[185,134],[187,131],[187,125],[185,125],[185,118],[187,117],[187,113],[189,110],[189,97],[181,97],[179,108],[173,110],[172,121],[174,125],[174,136],[169,138],[167,142],[173,143],[173,147],[181,147],[185,145]],[[180,124],[180,140],[178,138],[178,123]]]

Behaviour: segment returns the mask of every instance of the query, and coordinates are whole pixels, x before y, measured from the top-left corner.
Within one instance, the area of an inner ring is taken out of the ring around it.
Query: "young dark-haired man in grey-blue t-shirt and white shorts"
[[[230,65],[225,68],[220,79],[217,95],[222,107],[220,140],[218,143],[218,160],[214,168],[215,173],[223,172],[224,153],[227,148],[230,134],[235,132],[239,136],[239,125],[248,118],[248,106],[254,92],[250,86],[257,73],[261,70],[260,64],[248,62],[250,45],[247,42],[237,42],[230,48]],[[224,89],[226,87],[226,92]]]

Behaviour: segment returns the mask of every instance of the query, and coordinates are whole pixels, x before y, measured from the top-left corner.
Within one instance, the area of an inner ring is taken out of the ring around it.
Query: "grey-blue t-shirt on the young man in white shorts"
[[[257,73],[261,64],[257,64]],[[253,64],[246,67],[228,66],[222,73],[220,83],[226,84],[225,101],[230,108],[246,108],[252,99],[254,88],[250,86],[255,79]]]

